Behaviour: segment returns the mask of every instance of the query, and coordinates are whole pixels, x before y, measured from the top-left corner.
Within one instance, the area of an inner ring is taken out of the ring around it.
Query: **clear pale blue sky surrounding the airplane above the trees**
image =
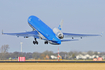
[[[30,15],[39,17],[52,29],[58,27],[63,19],[62,32],[101,34],[105,32],[105,0],[0,0],[0,31],[31,31],[27,23]],[[33,45],[34,38],[24,39],[0,34],[0,47],[8,44],[9,52],[43,52],[60,51],[105,51],[105,34],[103,37],[87,37],[79,41],[65,42],[61,45]]]

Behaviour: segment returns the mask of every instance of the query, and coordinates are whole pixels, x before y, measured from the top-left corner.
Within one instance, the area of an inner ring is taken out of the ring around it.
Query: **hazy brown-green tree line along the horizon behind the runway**
[[[0,48],[0,60],[8,60],[9,58],[12,59],[18,59],[18,57],[26,57],[26,59],[46,59],[46,56],[49,56],[49,59],[51,59],[51,55],[58,56],[58,53],[54,53],[53,51],[44,51],[42,53],[39,52],[8,52],[9,45],[3,45]],[[75,59],[76,55],[78,54],[85,54],[83,52],[77,52],[77,51],[70,51],[70,52],[59,52],[59,55],[62,57],[62,59]],[[93,51],[88,51],[86,54],[89,55],[105,55],[105,52],[98,53]]]

